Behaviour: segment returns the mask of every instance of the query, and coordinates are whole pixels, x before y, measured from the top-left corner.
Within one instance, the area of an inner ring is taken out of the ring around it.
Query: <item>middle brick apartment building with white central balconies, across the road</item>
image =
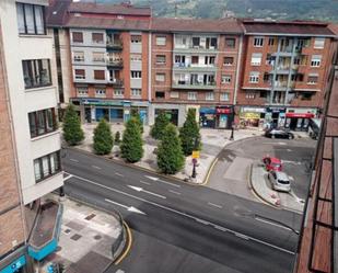
[[[151,123],[165,111],[180,126],[193,107],[201,127],[231,127],[241,33],[236,20],[153,18]]]

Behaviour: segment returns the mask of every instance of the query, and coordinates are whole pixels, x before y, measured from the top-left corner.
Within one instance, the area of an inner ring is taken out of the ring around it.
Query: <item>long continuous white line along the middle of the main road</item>
[[[214,228],[217,227],[217,229],[219,229],[219,230],[223,229],[224,232],[232,232],[233,235],[237,234],[237,235],[240,235],[240,236],[241,236],[241,235],[242,235],[242,236],[246,236],[246,235],[236,232],[236,231],[234,231],[234,230],[232,230],[232,229],[229,229],[229,228],[225,228],[225,227],[221,227],[221,226],[219,226],[219,225],[217,225],[217,224],[213,224],[213,223],[210,223],[210,221],[207,221],[207,220],[202,220],[202,219],[197,218],[197,217],[195,217],[195,216],[191,216],[191,215],[189,215],[189,214],[186,214],[186,213],[183,213],[183,212],[173,209],[173,208],[171,208],[171,207],[166,207],[166,206],[161,205],[161,204],[158,204],[158,203],[155,203],[155,202],[148,201],[148,200],[145,200],[145,198],[141,198],[141,197],[135,196],[135,195],[132,195],[132,194],[126,193],[126,192],[124,192],[124,191],[119,191],[119,190],[114,189],[114,187],[109,187],[109,186],[106,186],[106,185],[102,185],[102,184],[100,184],[100,183],[97,183],[97,182],[94,182],[94,181],[91,181],[91,180],[89,180],[89,179],[81,178],[81,177],[78,177],[78,175],[75,175],[75,174],[73,174],[73,177],[77,178],[77,179],[79,179],[79,180],[82,180],[82,181],[84,181],[84,182],[88,182],[88,183],[90,183],[90,184],[93,184],[93,185],[96,185],[96,186],[100,186],[100,187],[109,190],[109,191],[112,191],[112,192],[116,192],[116,193],[123,194],[123,195],[125,195],[125,196],[128,196],[128,197],[131,197],[131,198],[141,201],[141,202],[151,204],[151,205],[153,205],[153,206],[160,207],[160,208],[165,209],[165,211],[167,211],[167,212],[172,212],[172,213],[175,213],[175,214],[185,216],[185,217],[187,217],[187,218],[189,218],[189,219],[193,219],[193,220],[202,223],[202,224],[205,224],[205,225],[211,225],[211,226],[214,227]],[[271,244],[271,243],[269,243],[269,242],[266,242],[266,241],[256,239],[256,238],[250,237],[250,236],[246,236],[246,237],[247,237],[249,240],[255,241],[255,242],[257,242],[257,243],[260,243],[260,244],[270,247],[270,248],[272,248],[272,249],[277,249],[277,250],[279,250],[279,251],[282,251],[282,252],[285,252],[285,253],[289,253],[289,254],[292,254],[292,255],[294,254],[294,252],[292,252],[292,251],[290,251],[290,250],[288,250],[288,249],[283,249],[283,248],[277,247],[277,246],[275,246],[275,244]]]

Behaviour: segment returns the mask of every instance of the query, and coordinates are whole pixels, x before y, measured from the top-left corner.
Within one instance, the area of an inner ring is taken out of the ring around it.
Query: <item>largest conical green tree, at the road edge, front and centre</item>
[[[174,174],[182,170],[184,163],[185,158],[176,127],[168,124],[158,148],[158,167],[164,173]]]

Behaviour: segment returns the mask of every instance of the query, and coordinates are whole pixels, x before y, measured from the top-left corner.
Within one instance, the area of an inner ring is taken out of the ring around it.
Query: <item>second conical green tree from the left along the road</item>
[[[94,129],[94,150],[97,155],[107,155],[112,151],[114,139],[110,125],[102,118]]]

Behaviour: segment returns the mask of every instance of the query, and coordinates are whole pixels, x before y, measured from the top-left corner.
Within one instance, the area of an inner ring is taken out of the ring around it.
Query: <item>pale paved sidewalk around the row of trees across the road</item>
[[[85,132],[85,139],[81,145],[77,146],[78,148],[93,152],[93,132],[95,126],[96,126],[95,124],[82,125],[82,128]],[[112,124],[112,132],[114,136],[117,130],[120,132],[120,134],[123,135],[124,129],[125,126],[123,124]],[[153,152],[154,149],[156,149],[158,147],[158,140],[153,139],[149,134],[150,134],[150,126],[144,126],[144,133],[143,133],[144,155],[143,158],[135,164],[154,172],[159,172],[156,164],[156,155]],[[226,146],[230,143],[233,143],[233,140],[229,140],[231,136],[231,130],[201,128],[200,134],[201,134],[202,150],[200,151],[200,159],[198,159],[198,167],[196,169],[197,178],[195,182],[197,184],[201,184],[205,182],[211,164],[215,160],[219,152],[224,148],[224,146]],[[234,140],[240,140],[253,136],[259,136],[263,132],[253,129],[235,130]],[[112,155],[108,155],[107,157],[114,157],[114,159],[116,160],[123,160],[121,158],[118,157],[118,155],[119,155],[119,148],[118,146],[114,146]],[[185,180],[191,175],[191,172],[193,172],[193,159],[191,157],[187,157],[185,168],[173,177],[176,179]]]

